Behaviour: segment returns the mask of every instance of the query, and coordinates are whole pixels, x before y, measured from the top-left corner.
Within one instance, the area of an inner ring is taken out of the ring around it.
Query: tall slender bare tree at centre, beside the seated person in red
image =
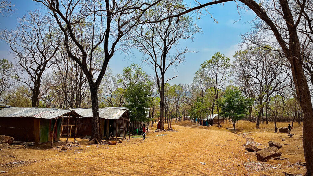
[[[168,2],[167,2],[168,3]],[[180,8],[170,8],[164,11],[164,2],[154,6],[149,12],[144,13],[141,21],[158,20],[172,16]],[[177,77],[165,78],[165,73],[171,67],[177,67],[185,61],[184,54],[188,49],[178,49],[177,44],[181,39],[193,39],[193,34],[200,32],[189,16],[182,16],[179,20],[168,18],[162,23],[145,23],[137,26],[130,35],[131,46],[139,49],[144,55],[144,62],[151,64],[157,78],[157,87],[160,93],[161,130],[164,129],[164,86],[167,81]],[[171,52],[174,50],[174,52]]]

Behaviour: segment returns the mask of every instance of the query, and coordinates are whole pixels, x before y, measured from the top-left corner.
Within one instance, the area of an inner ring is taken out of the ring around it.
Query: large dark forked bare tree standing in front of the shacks
[[[121,38],[138,25],[140,18],[151,6],[157,4],[145,1],[122,0],[34,0],[41,3],[56,20],[64,34],[64,44],[69,57],[83,70],[90,87],[92,104],[92,134],[90,143],[102,142],[99,132],[98,88],[109,60],[118,48]],[[89,31],[75,33],[75,28],[90,25]],[[90,35],[89,41],[80,40],[80,35]],[[80,53],[75,55],[74,44]],[[95,62],[94,53],[103,47],[104,59],[100,71],[92,72]]]

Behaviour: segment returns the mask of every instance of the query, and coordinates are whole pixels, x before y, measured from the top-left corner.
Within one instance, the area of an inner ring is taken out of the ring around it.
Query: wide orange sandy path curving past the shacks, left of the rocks
[[[1,175],[248,175],[243,166],[249,157],[242,146],[244,138],[223,131],[176,127],[178,132],[147,133],[145,141],[131,138],[116,146],[83,145],[80,153],[75,148],[67,152],[3,149],[1,155],[13,153],[19,160],[39,161]]]

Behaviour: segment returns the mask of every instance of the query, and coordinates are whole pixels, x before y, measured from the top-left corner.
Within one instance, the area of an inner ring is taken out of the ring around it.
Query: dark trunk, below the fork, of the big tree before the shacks
[[[91,105],[92,105],[92,122],[91,122],[91,139],[90,144],[102,143],[99,128],[99,104],[98,92],[95,86],[90,86]]]

